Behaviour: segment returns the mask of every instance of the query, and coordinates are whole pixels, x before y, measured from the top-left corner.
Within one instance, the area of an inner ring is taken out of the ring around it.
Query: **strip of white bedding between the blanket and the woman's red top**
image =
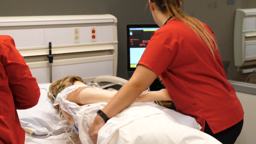
[[[183,115],[175,110],[172,110],[169,108],[164,108],[164,107],[156,105],[156,104],[152,104],[152,103],[148,103],[148,104],[161,109],[163,112],[165,112],[169,116],[172,116],[172,118],[175,119],[181,125],[185,125],[185,126],[194,128],[199,131],[202,129],[201,125],[196,122],[196,119],[191,116]]]

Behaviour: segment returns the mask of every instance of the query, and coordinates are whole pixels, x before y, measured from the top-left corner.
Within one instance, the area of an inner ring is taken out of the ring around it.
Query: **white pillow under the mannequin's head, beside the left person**
[[[45,88],[49,90],[51,84],[38,84],[39,88]],[[30,109],[17,110],[20,118],[21,127],[28,132],[27,128],[36,135],[45,135],[53,131],[58,122],[53,135],[59,135],[65,132],[62,123],[59,118],[59,111],[53,108],[53,100],[47,97],[48,92],[46,90],[40,90],[41,95],[38,104]],[[63,117],[63,122],[68,129],[69,123]]]

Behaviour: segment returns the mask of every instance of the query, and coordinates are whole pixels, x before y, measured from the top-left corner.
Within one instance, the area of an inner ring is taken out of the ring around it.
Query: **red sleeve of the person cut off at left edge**
[[[8,38],[4,51],[4,70],[12,90],[15,109],[28,109],[36,106],[40,97],[40,89],[24,58],[15,48],[12,37]]]

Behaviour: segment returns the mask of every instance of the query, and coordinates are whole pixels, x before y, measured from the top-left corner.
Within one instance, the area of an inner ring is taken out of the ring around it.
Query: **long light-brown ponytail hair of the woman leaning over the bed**
[[[215,59],[214,52],[218,51],[218,45],[210,32],[204,27],[201,21],[196,18],[189,17],[185,12],[182,12],[180,7],[180,2],[182,0],[150,0],[152,3],[156,4],[159,10],[163,13],[168,12],[173,18],[186,23],[190,28],[192,28],[196,35],[199,36],[207,47],[210,49],[212,56]]]

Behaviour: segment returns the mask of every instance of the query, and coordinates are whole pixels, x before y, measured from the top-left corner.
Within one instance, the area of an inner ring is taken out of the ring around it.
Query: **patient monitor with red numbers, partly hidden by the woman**
[[[156,24],[127,25],[127,68],[128,72],[136,69],[150,38],[159,27]]]

